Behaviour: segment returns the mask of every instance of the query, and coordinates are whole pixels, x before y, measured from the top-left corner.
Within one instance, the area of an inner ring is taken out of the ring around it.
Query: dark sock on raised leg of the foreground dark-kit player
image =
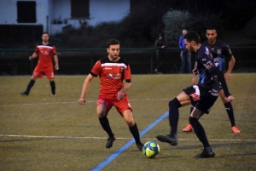
[[[171,134],[170,136],[172,138],[176,138],[177,134],[177,123],[178,123],[178,117],[179,112],[178,108],[181,107],[180,102],[177,100],[177,98],[174,98],[169,102],[169,123],[171,126]]]

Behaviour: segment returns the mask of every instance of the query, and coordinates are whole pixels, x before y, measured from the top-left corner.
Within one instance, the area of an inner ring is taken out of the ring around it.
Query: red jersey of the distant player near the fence
[[[38,53],[38,64],[52,64],[52,55],[56,54],[55,46],[51,44],[44,45],[43,43],[36,46]]]

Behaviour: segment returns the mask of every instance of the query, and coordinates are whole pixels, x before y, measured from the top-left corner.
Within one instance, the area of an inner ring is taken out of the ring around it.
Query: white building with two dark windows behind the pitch
[[[130,0],[0,0],[0,26],[39,25],[49,35],[64,26],[119,21],[129,13]]]

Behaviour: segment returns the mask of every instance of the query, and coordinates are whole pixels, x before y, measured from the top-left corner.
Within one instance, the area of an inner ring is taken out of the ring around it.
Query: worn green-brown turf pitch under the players
[[[90,84],[87,102],[78,100],[86,76],[56,76],[56,97],[49,81],[38,79],[29,96],[21,96],[30,76],[0,77],[0,170],[92,170],[116,154],[132,138],[129,128],[113,107],[108,119],[117,140],[105,149],[107,134],[96,117],[99,79]],[[140,132],[168,111],[168,102],[190,85],[190,74],[133,75],[128,91]],[[143,156],[132,144],[113,157],[102,170],[256,170],[256,74],[233,74],[228,84],[240,134],[233,134],[220,98],[209,115],[201,117],[216,156],[196,159],[203,148],[194,133],[183,133],[189,106],[180,109],[178,145],[155,139],[169,134],[168,118],[142,136],[155,140],[160,154]]]

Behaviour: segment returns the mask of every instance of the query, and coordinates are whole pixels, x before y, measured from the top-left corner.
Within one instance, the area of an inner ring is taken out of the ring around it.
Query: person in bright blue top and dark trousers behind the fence
[[[181,57],[181,73],[185,73],[185,66],[187,64],[187,73],[191,72],[191,53],[188,49],[186,49],[186,45],[184,44],[184,35],[187,34],[187,30],[183,30],[183,36],[179,37],[178,46],[181,49],[180,57]]]

